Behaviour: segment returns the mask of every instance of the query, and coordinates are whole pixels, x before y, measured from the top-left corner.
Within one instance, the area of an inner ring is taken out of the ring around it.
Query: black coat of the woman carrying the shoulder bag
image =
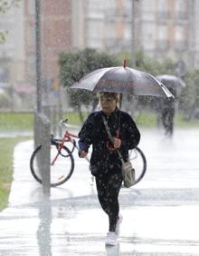
[[[137,125],[128,113],[118,109],[109,117],[102,111],[90,113],[79,133],[79,147],[80,151],[88,151],[92,144],[90,166],[93,175],[98,175],[100,172],[120,172],[121,167],[117,151],[109,151],[107,147],[110,141],[102,115],[108,121],[112,136],[117,136],[119,127],[118,138],[121,140],[119,151],[125,161],[128,160],[128,150],[135,148],[140,140]]]

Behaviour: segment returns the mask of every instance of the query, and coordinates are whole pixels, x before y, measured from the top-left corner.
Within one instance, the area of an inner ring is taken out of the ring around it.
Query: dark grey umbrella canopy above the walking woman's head
[[[71,89],[85,89],[93,93],[174,97],[155,76],[124,66],[97,69],[72,84]]]

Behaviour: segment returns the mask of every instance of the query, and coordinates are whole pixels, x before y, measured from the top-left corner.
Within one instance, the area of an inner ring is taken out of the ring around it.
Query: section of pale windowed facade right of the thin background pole
[[[142,0],[140,8],[139,44],[144,53],[158,58],[173,58],[189,66],[197,66],[196,1]],[[198,8],[198,6],[197,6]]]

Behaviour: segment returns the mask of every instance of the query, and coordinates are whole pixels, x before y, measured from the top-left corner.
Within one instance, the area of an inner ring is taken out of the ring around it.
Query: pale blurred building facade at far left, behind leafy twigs
[[[0,31],[6,34],[0,44],[0,83],[20,81],[24,74],[24,5],[10,7],[0,14]]]

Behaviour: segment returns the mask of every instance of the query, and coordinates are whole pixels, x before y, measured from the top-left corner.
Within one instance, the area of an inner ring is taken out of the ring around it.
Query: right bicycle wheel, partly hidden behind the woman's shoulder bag
[[[136,172],[136,181],[134,183],[135,185],[142,180],[147,171],[147,160],[145,154],[138,147],[130,150],[128,154],[129,160]]]

